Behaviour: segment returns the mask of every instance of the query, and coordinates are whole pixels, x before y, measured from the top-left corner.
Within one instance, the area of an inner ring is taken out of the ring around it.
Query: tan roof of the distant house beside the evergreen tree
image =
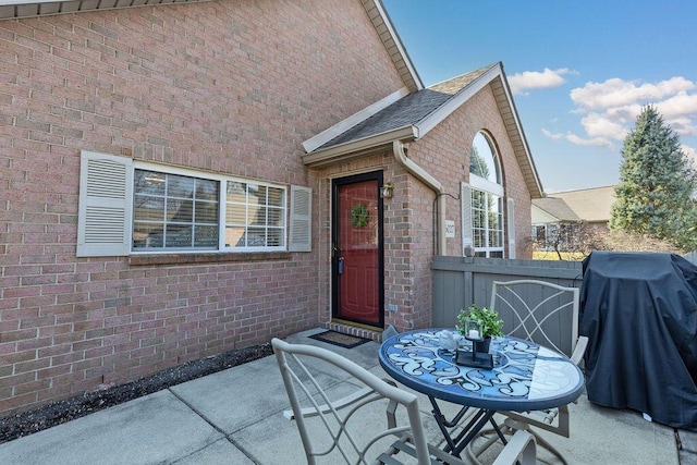
[[[603,186],[550,194],[533,205],[559,221],[607,222],[614,199],[614,186]]]

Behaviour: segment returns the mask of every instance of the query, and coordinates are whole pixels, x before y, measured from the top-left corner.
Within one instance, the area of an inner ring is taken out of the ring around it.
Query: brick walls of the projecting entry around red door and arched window
[[[469,179],[469,151],[478,131],[488,131],[501,157],[505,195],[515,200],[517,257],[528,257],[524,237],[530,231],[530,194],[517,164],[513,147],[490,87],[472,97],[463,107],[431,130],[423,139],[408,146],[408,157],[442,183],[445,191],[447,218],[455,221],[456,234],[448,238],[448,254],[462,250],[460,223],[460,183]],[[436,193],[409,175],[395,160],[391,150],[317,171],[322,180],[320,206],[321,234],[330,237],[331,179],[358,172],[383,172],[384,182],[395,185],[393,197],[384,199],[384,306],[386,325],[400,331],[431,326],[431,260],[435,253]],[[508,244],[506,244],[508,246]],[[322,244],[329,250],[331,244]],[[320,307],[331,316],[331,277],[329,254],[320,260],[325,270],[320,278],[323,290]],[[395,313],[387,310],[395,305]]]

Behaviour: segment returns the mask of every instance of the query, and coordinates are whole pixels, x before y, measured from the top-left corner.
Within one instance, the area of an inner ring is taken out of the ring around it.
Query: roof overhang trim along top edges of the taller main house
[[[135,7],[158,7],[181,3],[199,3],[213,0],[0,0],[0,21],[35,17],[52,14],[80,13],[95,10],[114,10]],[[237,1],[237,0],[228,0]],[[409,56],[380,0],[362,0],[372,26],[388,50],[392,63],[409,91],[424,88]]]

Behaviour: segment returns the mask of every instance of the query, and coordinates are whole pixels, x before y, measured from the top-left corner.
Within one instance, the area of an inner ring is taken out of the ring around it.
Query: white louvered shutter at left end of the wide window
[[[81,154],[78,257],[115,257],[131,252],[133,161]]]

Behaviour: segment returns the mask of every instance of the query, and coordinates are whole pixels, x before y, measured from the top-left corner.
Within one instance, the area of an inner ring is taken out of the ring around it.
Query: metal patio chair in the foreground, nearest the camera
[[[273,339],[271,345],[292,407],[292,412],[284,415],[296,423],[308,464],[314,465],[318,458],[332,453],[332,463],[343,457],[347,464],[401,464],[401,458],[411,463],[416,460],[419,465],[465,464],[427,442],[415,394],[326,348],[289,344],[279,339]],[[323,389],[318,377],[314,376],[314,372],[320,374],[316,368],[313,369],[317,367],[317,360],[329,363],[348,375],[342,387],[356,386],[357,390],[342,399],[332,400],[328,392],[330,390]],[[383,427],[366,425],[365,417],[363,421],[360,418],[364,407],[378,407],[377,404],[387,404]],[[399,407],[406,413],[406,420],[400,413],[401,426],[398,426]],[[307,423],[310,417],[319,419],[311,427]],[[317,428],[327,435],[320,439]],[[374,430],[379,431],[374,433]],[[499,454],[497,465],[516,461],[535,463],[535,438],[525,431],[521,432]],[[376,444],[386,438],[384,444]],[[322,439],[325,442],[319,445]]]

